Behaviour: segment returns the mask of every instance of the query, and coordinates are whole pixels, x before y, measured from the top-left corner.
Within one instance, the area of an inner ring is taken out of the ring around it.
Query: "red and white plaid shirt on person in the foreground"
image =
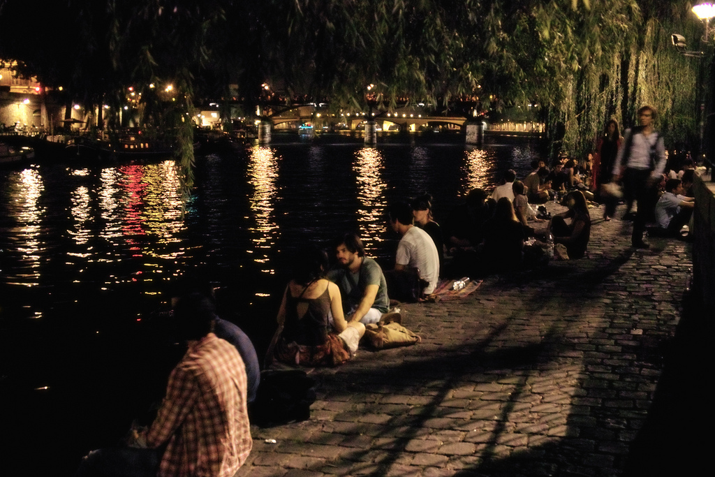
[[[245,366],[213,333],[192,343],[169,376],[147,434],[149,447],[164,443],[159,477],[231,477],[251,451]]]

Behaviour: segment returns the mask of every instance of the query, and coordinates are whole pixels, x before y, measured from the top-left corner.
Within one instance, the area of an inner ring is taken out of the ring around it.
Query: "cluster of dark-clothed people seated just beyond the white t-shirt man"
[[[516,180],[516,172],[510,169],[492,195],[475,189],[464,205],[455,207],[445,222],[445,247],[454,257],[453,266],[463,269],[467,264],[476,272],[498,272],[538,265],[550,256],[550,234],[553,243],[565,249],[561,257],[583,257],[591,233],[586,195],[577,187],[551,188],[568,179],[560,163],[554,171],[546,169],[543,161],[531,165],[523,181]],[[542,212],[539,218],[534,208],[551,197],[561,197],[568,210],[554,217]]]

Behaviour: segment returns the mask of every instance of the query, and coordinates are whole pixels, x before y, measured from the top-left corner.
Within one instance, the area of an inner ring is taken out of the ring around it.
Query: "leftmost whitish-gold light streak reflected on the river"
[[[14,212],[19,227],[17,252],[20,270],[16,277],[19,285],[33,287],[39,285],[39,267],[43,252],[41,219],[44,208],[39,205],[39,198],[44,185],[36,169],[24,169],[20,172],[16,185],[15,204],[11,208],[11,214]]]

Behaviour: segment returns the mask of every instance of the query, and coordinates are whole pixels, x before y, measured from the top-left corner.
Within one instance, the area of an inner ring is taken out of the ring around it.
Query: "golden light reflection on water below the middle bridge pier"
[[[353,169],[358,180],[358,223],[366,250],[375,250],[385,231],[385,167],[382,154],[373,147],[363,147],[355,153]]]

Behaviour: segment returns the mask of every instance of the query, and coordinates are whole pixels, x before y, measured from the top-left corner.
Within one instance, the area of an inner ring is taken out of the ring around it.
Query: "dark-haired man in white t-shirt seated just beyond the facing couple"
[[[398,299],[413,300],[413,295],[418,295],[420,299],[424,295],[429,295],[435,290],[440,275],[440,259],[437,247],[432,238],[424,230],[413,225],[412,207],[405,202],[398,202],[388,207],[388,223],[390,228],[398,232],[402,237],[398,243],[397,255],[395,257],[395,269],[388,274],[394,277],[395,290],[398,292]],[[421,290],[417,293],[406,289],[405,280],[416,272]],[[390,288],[393,290],[393,288]],[[392,291],[390,291],[392,293]]]

